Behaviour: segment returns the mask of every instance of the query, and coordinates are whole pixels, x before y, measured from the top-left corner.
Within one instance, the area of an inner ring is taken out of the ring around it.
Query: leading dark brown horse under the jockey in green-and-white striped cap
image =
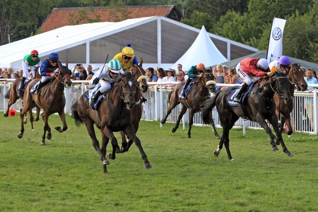
[[[98,111],[89,107],[88,101],[83,95],[72,105],[72,118],[75,119],[77,126],[84,123],[88,134],[93,142],[93,146],[101,157],[104,173],[107,172],[106,164],[106,146],[108,141],[112,144],[112,153],[108,155],[110,159],[116,158],[116,148],[118,147],[117,139],[113,132],[123,131],[138,146],[142,158],[144,159],[144,167],[151,168],[151,164],[147,159],[147,155],[143,150],[140,140],[136,136],[134,126],[132,124],[132,111],[136,102],[140,101],[140,90],[135,75],[129,71],[124,74],[120,73],[121,80],[106,94],[104,100],[99,103]],[[99,147],[97,141],[94,124],[100,129],[102,134],[102,146]],[[127,146],[123,146],[127,151]]]

